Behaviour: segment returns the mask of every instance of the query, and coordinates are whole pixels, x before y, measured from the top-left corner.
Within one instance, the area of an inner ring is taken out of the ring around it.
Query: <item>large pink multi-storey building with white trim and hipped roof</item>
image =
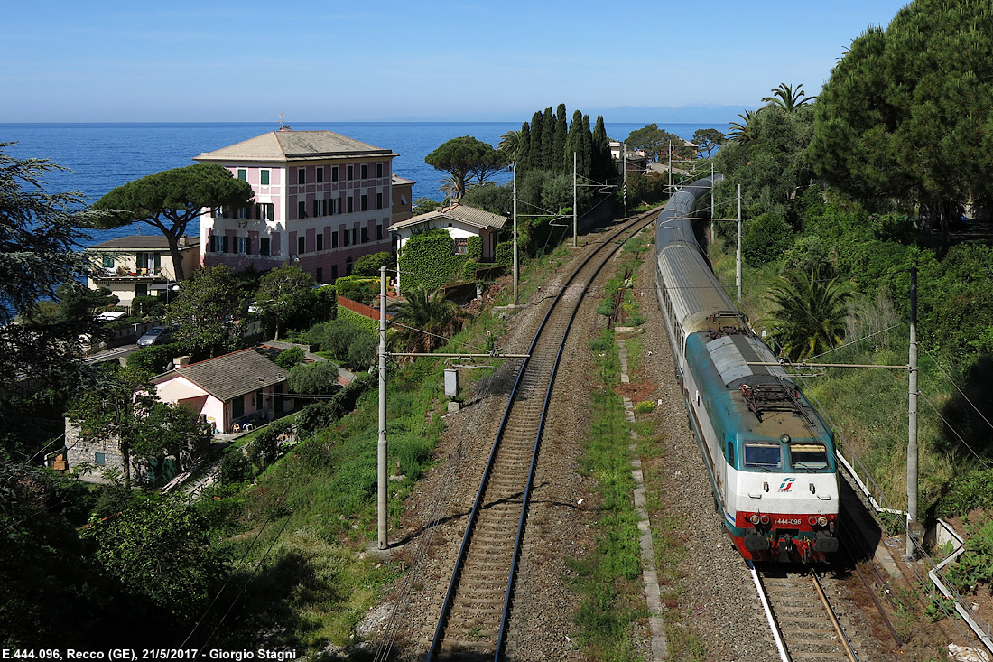
[[[288,126],[201,154],[196,161],[224,166],[255,191],[248,207],[202,217],[204,266],[261,271],[292,261],[318,282],[350,274],[361,255],[392,248],[386,229],[396,156],[331,131]]]

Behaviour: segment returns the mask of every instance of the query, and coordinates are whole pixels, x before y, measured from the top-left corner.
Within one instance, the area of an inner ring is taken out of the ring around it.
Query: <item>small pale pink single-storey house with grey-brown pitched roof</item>
[[[152,378],[159,400],[185,405],[221,432],[292,409],[286,373],[253,349],[180,366]],[[289,407],[288,407],[289,406]]]

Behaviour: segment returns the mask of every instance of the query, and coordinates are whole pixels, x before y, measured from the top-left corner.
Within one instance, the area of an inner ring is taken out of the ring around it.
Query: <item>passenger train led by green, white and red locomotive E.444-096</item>
[[[825,563],[838,551],[830,427],[714,275],[692,216],[721,181],[674,193],[655,221],[655,290],[714,505],[748,562]],[[706,216],[713,216],[707,214]]]

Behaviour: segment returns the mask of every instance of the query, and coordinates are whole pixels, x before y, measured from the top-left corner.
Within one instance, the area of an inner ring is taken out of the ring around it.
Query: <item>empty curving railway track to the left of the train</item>
[[[637,217],[612,234],[551,301],[497,429],[428,660],[501,656],[541,432],[569,327],[601,268],[655,216]]]

